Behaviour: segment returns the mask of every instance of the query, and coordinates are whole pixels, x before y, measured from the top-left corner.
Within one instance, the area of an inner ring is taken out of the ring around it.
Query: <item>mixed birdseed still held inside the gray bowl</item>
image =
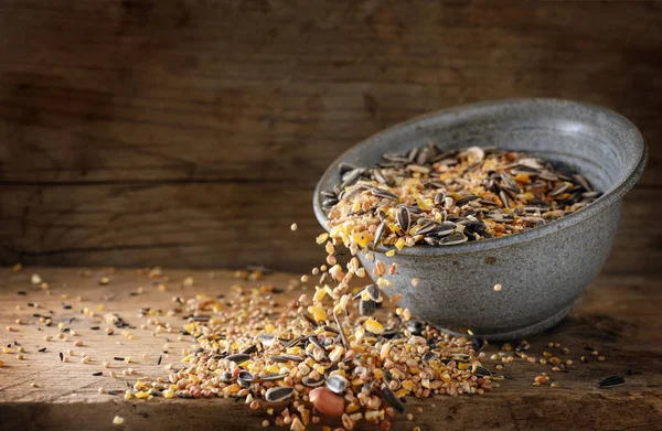
[[[332,238],[345,246],[451,246],[516,234],[575,213],[600,196],[579,174],[526,153],[434,144],[383,155],[374,168],[339,166],[323,191]]]

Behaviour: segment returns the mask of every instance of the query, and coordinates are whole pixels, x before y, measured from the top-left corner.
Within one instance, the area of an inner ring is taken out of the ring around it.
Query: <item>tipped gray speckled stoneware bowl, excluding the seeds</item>
[[[403,122],[353,147],[327,170],[313,207],[328,229],[320,191],[339,181],[338,164],[374,165],[385,152],[435,142],[441,149],[496,146],[526,151],[585,175],[605,194],[585,209],[522,234],[457,246],[405,248],[386,293],[445,331],[470,328],[488,340],[544,331],[573,308],[605,263],[623,195],[641,176],[648,151],[637,127],[592,105],[558,99],[510,99],[462,106]],[[369,272],[373,262],[360,256]],[[413,288],[412,278],[420,279]],[[495,292],[493,287],[503,289]]]

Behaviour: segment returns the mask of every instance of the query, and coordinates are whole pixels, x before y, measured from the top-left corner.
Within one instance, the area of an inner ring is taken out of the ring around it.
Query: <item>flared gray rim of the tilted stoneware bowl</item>
[[[605,192],[602,194],[602,196],[600,196],[600,198],[596,200],[590,205],[587,205],[585,208],[583,208],[576,213],[569,214],[567,216],[564,216],[563,218],[560,218],[558,220],[554,220],[554,222],[549,223],[548,225],[536,227],[531,230],[526,230],[523,233],[517,233],[517,234],[513,234],[513,235],[509,235],[509,236],[504,236],[504,237],[490,238],[490,239],[472,241],[472,243],[465,243],[465,244],[455,245],[455,246],[435,247],[435,246],[428,246],[428,245],[415,245],[413,247],[403,248],[402,250],[398,251],[398,255],[404,255],[404,256],[445,256],[445,255],[461,255],[461,254],[482,252],[482,251],[489,251],[489,250],[494,250],[494,249],[499,249],[499,248],[506,248],[506,247],[510,247],[513,245],[528,243],[536,238],[542,238],[542,237],[545,237],[548,235],[553,235],[554,233],[556,233],[558,230],[567,229],[572,226],[575,226],[578,223],[581,223],[583,220],[585,220],[587,218],[595,216],[596,214],[602,212],[604,209],[608,208],[612,204],[620,201],[623,197],[623,195],[634,186],[637,181],[643,174],[643,171],[644,171],[647,162],[648,162],[648,157],[649,157],[648,146],[645,143],[645,140],[643,139],[641,132],[639,131],[637,126],[634,126],[634,123],[632,123],[629,119],[627,119],[622,115],[620,115],[611,109],[608,109],[608,108],[605,108],[601,106],[597,106],[597,105],[592,105],[592,104],[587,104],[584,101],[576,101],[576,100],[568,100],[568,99],[560,99],[560,98],[506,98],[506,99],[489,100],[489,101],[482,101],[482,103],[477,103],[477,104],[460,105],[460,106],[451,107],[448,109],[441,109],[441,110],[437,110],[437,111],[433,111],[433,112],[424,114],[421,116],[414,117],[409,120],[398,122],[398,123],[391,126],[382,131],[378,131],[377,133],[372,134],[371,137],[360,141],[355,146],[353,146],[350,149],[348,149],[346,151],[344,151],[329,165],[329,168],[324,171],[324,173],[322,174],[322,176],[320,177],[320,180],[318,181],[318,183],[314,187],[312,206],[313,206],[313,212],[314,212],[314,215],[316,215],[318,222],[320,223],[322,228],[324,228],[327,231],[330,231],[330,229],[327,227],[328,217],[324,214],[324,212],[322,209],[322,205],[321,205],[322,200],[321,200],[320,192],[322,191],[322,183],[325,182],[325,180],[330,175],[337,173],[338,165],[341,162],[343,162],[345,159],[348,159],[348,157],[360,151],[362,148],[373,146],[376,142],[381,141],[384,137],[393,134],[403,128],[412,128],[417,125],[424,125],[424,123],[440,120],[440,119],[452,119],[453,117],[457,118],[460,115],[470,117],[471,115],[479,115],[481,111],[483,111],[485,109],[509,108],[509,107],[512,108],[512,107],[515,107],[519,105],[525,105],[525,104],[538,104],[541,106],[565,105],[566,107],[573,107],[573,108],[583,109],[585,111],[590,111],[594,114],[605,115],[605,116],[609,117],[609,119],[611,121],[613,121],[615,123],[617,123],[618,126],[620,126],[622,128],[623,132],[621,134],[623,134],[623,138],[620,141],[629,140],[630,144],[636,149],[636,152],[639,155],[639,158],[638,158],[639,160],[637,160],[636,163],[631,163],[629,166],[629,171],[627,172],[627,175],[620,182],[613,184],[607,192]],[[374,248],[373,250],[376,252],[385,252],[393,248],[394,247],[378,246],[378,247]]]

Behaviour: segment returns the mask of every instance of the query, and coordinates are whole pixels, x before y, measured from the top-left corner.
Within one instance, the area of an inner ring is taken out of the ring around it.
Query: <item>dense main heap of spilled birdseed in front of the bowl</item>
[[[318,423],[320,413],[340,417],[348,430],[362,420],[387,429],[406,396],[482,395],[503,378],[481,364],[484,343],[442,334],[399,309],[388,314],[373,305],[374,316],[361,316],[360,304],[382,302],[374,285],[356,295],[325,287],[312,302],[303,294],[285,306],[270,285],[233,291],[174,300],[196,347],[184,352],[184,368],[167,381],[138,382],[137,392],[246,397],[292,430]]]

